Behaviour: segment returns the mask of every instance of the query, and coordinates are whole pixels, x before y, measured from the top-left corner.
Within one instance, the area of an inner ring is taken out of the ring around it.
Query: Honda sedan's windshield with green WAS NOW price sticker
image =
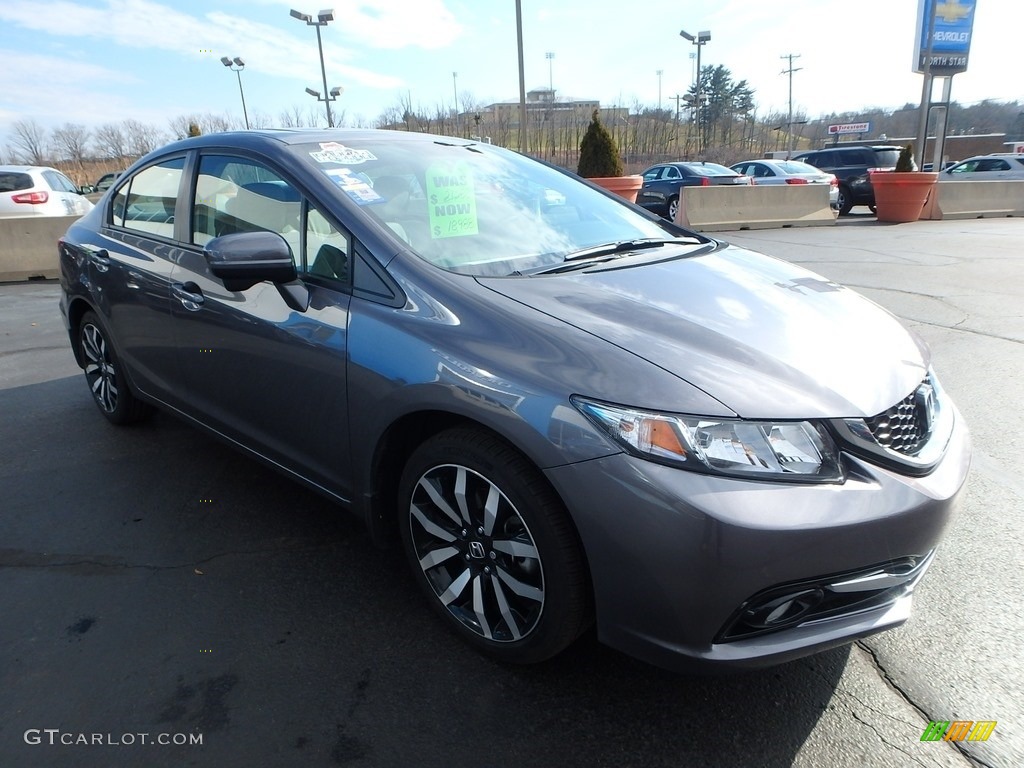
[[[577,179],[501,147],[431,136],[344,141],[297,148],[341,194],[444,269],[523,273],[593,246],[674,237]]]

